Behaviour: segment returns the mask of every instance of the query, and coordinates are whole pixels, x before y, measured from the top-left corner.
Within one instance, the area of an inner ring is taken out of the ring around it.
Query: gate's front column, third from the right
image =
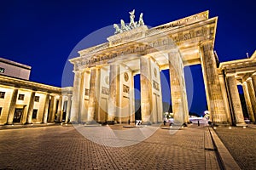
[[[142,56],[140,59],[140,70],[142,121],[148,123],[151,122],[152,82],[150,78],[150,60],[146,56]]]

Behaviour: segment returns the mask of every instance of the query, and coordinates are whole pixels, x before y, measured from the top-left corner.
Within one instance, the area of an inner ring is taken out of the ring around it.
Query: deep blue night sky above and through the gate
[[[67,64],[62,85],[72,86],[72,66],[67,59],[78,56],[79,49],[107,42],[106,37],[113,35],[113,24],[120,19],[129,22],[128,12],[135,8],[136,20],[143,12],[148,26],[160,26],[209,10],[210,17],[218,16],[215,50],[219,60],[245,59],[246,53],[251,56],[256,49],[254,7],[252,0],[2,0],[0,57],[31,65],[31,81],[57,87],[61,87]],[[168,71],[162,72],[168,76]],[[186,67],[185,73],[190,111],[201,114],[207,106],[201,65]],[[163,89],[164,101],[169,101],[168,90]]]

